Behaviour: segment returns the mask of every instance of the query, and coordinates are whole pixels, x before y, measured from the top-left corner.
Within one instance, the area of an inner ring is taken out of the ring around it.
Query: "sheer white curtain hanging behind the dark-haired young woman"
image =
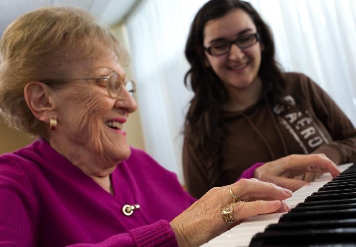
[[[192,93],[184,45],[207,0],[142,0],[126,21],[147,152],[181,172],[182,127]],[[270,26],[285,71],[317,82],[356,124],[356,0],[250,0]]]

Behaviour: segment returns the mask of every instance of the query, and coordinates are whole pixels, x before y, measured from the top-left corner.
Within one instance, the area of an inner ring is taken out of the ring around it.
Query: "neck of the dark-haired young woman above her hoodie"
[[[226,111],[243,111],[247,107],[255,104],[261,94],[262,82],[259,77],[246,88],[227,88],[229,94],[229,101],[223,106]]]

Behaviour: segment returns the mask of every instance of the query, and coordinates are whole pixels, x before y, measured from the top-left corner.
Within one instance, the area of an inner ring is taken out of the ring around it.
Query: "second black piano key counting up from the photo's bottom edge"
[[[277,224],[270,224],[265,231],[294,231],[307,229],[335,229],[356,227],[356,219],[343,220],[318,220],[318,221],[293,221],[293,222],[279,222]]]

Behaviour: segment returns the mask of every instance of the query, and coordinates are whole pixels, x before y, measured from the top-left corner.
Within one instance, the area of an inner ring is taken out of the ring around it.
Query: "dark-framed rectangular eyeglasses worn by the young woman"
[[[221,56],[229,53],[232,44],[236,44],[240,49],[246,49],[260,41],[258,33],[240,36],[233,41],[220,41],[204,49],[212,56]]]

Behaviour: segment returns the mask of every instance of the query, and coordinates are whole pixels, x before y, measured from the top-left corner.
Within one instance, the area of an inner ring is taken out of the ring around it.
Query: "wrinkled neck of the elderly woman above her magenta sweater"
[[[58,145],[58,143],[61,143],[61,145]],[[94,152],[86,150],[81,145],[74,148],[73,145],[70,145],[69,143],[66,144],[64,140],[57,142],[52,138],[50,139],[49,144],[59,154],[93,179],[101,188],[114,195],[110,174],[116,168],[116,162],[113,162],[111,165],[107,164],[105,159],[98,159]]]

